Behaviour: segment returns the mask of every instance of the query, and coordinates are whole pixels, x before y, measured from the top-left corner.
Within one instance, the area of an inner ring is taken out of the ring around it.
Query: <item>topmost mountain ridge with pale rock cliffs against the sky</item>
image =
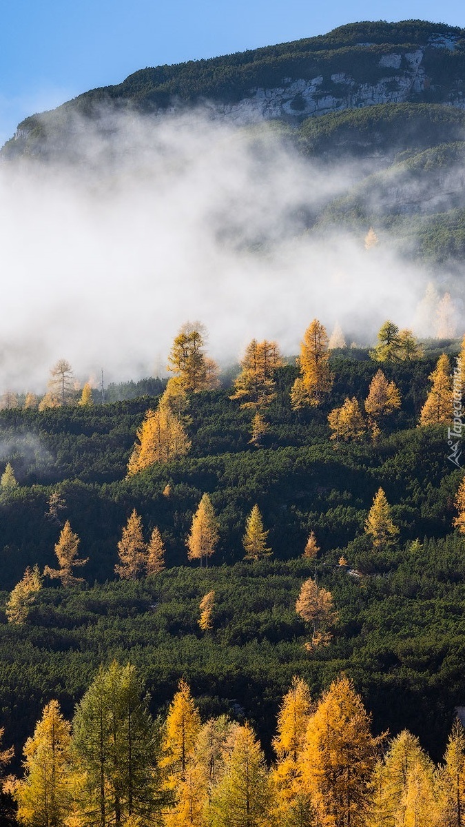
[[[465,30],[422,21],[362,22],[327,35],[210,60],[141,69],[19,124],[2,155],[46,155],[77,115],[111,125],[121,109],[168,112],[204,103],[233,120],[306,117],[387,103],[464,108]],[[60,143],[60,141],[58,141]]]

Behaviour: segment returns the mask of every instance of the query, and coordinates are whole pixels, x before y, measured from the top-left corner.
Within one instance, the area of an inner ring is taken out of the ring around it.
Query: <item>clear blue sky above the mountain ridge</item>
[[[323,34],[356,20],[465,26],[458,0],[1,0],[0,143],[32,112],[145,66]]]

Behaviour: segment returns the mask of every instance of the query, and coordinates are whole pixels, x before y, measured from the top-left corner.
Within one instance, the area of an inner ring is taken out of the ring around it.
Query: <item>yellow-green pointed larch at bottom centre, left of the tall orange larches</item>
[[[270,809],[265,757],[250,724],[236,727],[227,746],[223,777],[207,812],[211,827],[265,827]]]

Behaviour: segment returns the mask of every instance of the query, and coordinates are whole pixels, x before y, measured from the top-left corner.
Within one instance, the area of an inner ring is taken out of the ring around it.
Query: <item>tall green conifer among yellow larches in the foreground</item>
[[[131,664],[101,667],[76,708],[78,810],[88,827],[161,823],[168,798],[158,768],[160,733]]]

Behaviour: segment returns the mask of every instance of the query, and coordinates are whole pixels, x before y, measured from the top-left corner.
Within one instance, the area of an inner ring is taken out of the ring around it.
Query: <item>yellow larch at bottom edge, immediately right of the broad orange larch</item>
[[[405,798],[409,777],[418,768],[427,769],[429,758],[419,739],[404,729],[391,740],[385,755],[378,758],[370,782],[372,804],[367,827],[401,827],[405,823]],[[416,767],[416,769],[415,769]],[[410,788],[410,795],[412,789]]]

